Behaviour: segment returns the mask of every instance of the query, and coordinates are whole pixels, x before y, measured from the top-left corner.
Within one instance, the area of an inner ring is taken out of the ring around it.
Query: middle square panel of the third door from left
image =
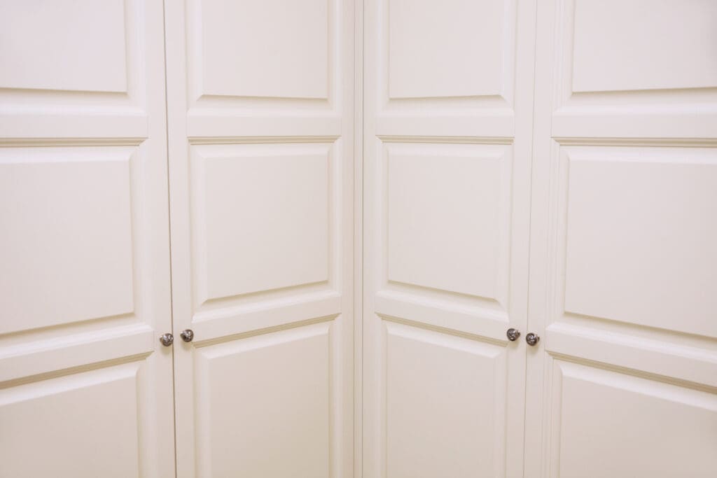
[[[388,279],[498,297],[510,150],[386,145]]]

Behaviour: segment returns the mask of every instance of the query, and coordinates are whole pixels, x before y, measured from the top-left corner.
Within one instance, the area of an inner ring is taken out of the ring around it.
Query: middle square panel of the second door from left
[[[200,300],[328,279],[330,149],[193,148]]]

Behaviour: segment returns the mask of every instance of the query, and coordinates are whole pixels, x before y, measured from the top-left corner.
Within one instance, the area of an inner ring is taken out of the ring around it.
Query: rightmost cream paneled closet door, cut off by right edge
[[[717,3],[539,4],[526,476],[715,477]]]

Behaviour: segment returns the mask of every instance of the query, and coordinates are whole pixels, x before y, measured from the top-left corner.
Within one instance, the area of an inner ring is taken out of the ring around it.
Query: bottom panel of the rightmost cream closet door
[[[583,365],[558,366],[559,476],[717,476],[717,396]]]

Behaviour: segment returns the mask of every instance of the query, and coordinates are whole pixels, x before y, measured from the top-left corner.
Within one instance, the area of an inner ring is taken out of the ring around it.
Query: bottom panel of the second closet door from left
[[[328,478],[329,324],[199,349],[201,476]]]

